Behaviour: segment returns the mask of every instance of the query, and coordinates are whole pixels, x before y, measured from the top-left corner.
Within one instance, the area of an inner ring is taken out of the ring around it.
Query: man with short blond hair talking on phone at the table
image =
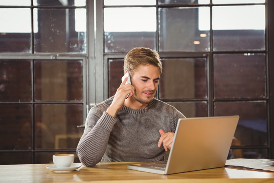
[[[83,165],[164,160],[177,121],[185,116],[154,98],[162,73],[159,59],[149,48],[134,48],[125,56],[124,73],[131,84],[126,77],[114,97],[89,111],[77,146]]]

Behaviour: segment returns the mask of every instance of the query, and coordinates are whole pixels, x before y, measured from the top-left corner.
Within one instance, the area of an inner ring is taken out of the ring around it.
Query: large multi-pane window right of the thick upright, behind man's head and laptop
[[[266,2],[115,2],[104,4],[106,96],[120,85],[128,50],[157,50],[163,63],[157,98],[186,117],[239,115],[230,158],[269,158]],[[114,12],[124,12],[123,19]]]

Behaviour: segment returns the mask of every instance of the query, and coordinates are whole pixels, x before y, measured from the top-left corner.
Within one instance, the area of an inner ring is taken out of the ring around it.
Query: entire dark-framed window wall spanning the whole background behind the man
[[[160,54],[156,98],[186,117],[240,116],[229,158],[273,158],[273,8],[267,0],[0,0],[0,164],[76,154],[88,110],[115,95],[133,47]]]

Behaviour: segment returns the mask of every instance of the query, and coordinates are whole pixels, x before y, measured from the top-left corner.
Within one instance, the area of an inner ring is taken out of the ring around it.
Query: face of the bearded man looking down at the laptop
[[[160,71],[157,67],[139,66],[131,77],[131,84],[135,88],[133,99],[148,104],[152,101],[159,85]]]

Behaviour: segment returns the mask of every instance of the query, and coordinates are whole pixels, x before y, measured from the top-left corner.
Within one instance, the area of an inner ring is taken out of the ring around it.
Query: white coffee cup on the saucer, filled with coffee
[[[74,162],[74,155],[72,154],[58,154],[52,156],[53,163],[57,168],[71,167]]]

